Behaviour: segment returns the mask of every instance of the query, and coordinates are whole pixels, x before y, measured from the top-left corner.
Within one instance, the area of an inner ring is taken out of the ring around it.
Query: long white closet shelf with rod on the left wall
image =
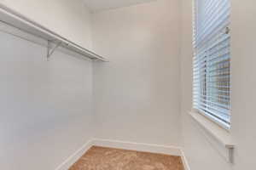
[[[37,22],[26,18],[24,15],[15,12],[13,9],[8,8],[0,3],[0,20],[9,26],[14,26],[20,31],[32,34],[36,37],[41,37],[46,41],[50,42],[61,42],[61,47],[67,48],[75,53],[82,54],[84,57],[99,60],[108,61],[101,55],[96,54],[89,49],[83,48],[78,44],[69,41],[65,37],[61,37],[54,31],[50,31],[48,28],[39,25]]]

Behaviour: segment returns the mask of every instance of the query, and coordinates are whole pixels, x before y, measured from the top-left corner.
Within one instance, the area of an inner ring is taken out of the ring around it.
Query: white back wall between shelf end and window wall
[[[179,1],[93,14],[97,138],[180,144]]]

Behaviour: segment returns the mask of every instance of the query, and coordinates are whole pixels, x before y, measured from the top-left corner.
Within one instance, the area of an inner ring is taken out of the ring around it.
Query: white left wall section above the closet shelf
[[[91,49],[90,12],[82,0],[0,0],[0,3]]]

